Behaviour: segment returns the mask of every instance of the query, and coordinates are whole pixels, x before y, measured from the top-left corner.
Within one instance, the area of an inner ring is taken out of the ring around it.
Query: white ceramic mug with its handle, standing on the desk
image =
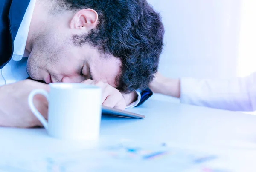
[[[81,83],[51,83],[50,92],[34,89],[29,95],[30,109],[49,135],[67,140],[96,140],[101,120],[101,89]],[[33,104],[33,97],[48,100],[48,122]]]

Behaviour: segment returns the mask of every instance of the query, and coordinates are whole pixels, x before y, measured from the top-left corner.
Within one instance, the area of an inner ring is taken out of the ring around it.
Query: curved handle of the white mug
[[[43,117],[43,115],[38,111],[38,109],[35,108],[35,105],[33,103],[33,98],[35,95],[40,94],[47,98],[47,101],[49,102],[49,93],[45,91],[44,89],[34,89],[29,94],[28,103],[29,108],[33,112],[33,114],[38,118],[38,120],[43,124],[44,128],[48,130],[48,123],[47,120]]]

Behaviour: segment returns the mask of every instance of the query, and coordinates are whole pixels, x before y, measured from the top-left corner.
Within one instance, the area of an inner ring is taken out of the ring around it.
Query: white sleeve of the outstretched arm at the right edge
[[[234,111],[256,110],[256,73],[229,80],[180,80],[180,102]]]

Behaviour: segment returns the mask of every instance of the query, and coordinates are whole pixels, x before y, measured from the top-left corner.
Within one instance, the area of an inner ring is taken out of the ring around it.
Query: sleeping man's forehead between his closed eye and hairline
[[[94,80],[100,80],[113,87],[116,86],[116,77],[121,72],[121,60],[113,55],[98,55],[91,60],[90,72]]]

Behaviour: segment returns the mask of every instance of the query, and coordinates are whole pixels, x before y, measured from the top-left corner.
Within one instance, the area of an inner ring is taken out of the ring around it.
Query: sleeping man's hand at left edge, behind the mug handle
[[[49,86],[32,80],[23,80],[0,87],[0,126],[22,128],[42,126],[28,105],[28,96],[33,89],[49,91]],[[47,118],[46,98],[36,95],[34,104],[38,111]]]

